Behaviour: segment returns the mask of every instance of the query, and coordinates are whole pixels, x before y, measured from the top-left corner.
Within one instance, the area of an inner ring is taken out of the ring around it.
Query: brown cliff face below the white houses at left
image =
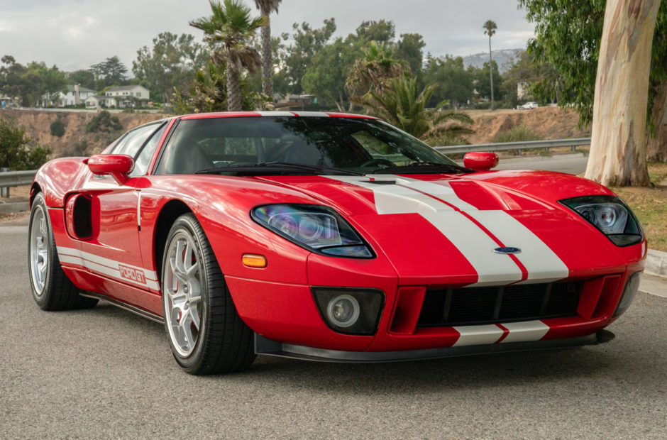
[[[26,127],[26,130],[35,141],[42,145],[49,145],[53,152],[51,158],[60,158],[63,155],[72,155],[85,146],[85,150],[77,155],[92,155],[106,148],[111,141],[118,137],[117,133],[86,133],[86,124],[97,116],[97,113],[88,111],[38,111],[38,110],[2,110],[0,116],[11,116],[18,125]],[[165,118],[163,114],[112,114],[118,116],[123,126],[123,133],[130,128],[143,123]],[[65,134],[62,138],[51,135],[50,126],[53,121],[60,118],[65,123]]]

